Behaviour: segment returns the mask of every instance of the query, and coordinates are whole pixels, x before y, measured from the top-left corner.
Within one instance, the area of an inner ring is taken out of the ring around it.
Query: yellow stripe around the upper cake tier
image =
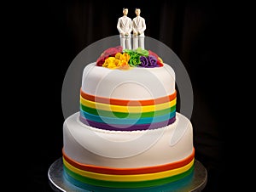
[[[155,110],[164,110],[170,108],[176,104],[176,98],[170,102],[166,102],[163,104],[154,104],[154,105],[146,105],[146,106],[121,106],[114,104],[102,104],[94,101],[90,101],[80,97],[80,103],[84,106],[98,109],[98,110],[108,110],[108,111],[116,111],[116,112],[126,112],[126,113],[138,113],[138,112],[149,112]]]

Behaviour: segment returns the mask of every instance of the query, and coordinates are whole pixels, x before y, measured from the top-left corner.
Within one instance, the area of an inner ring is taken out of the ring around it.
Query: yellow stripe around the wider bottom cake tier
[[[87,172],[84,170],[80,170],[76,167],[70,165],[65,159],[63,158],[64,165],[71,170],[72,172],[78,173],[87,178],[95,178],[98,180],[105,180],[105,181],[147,181],[153,180],[158,178],[167,178],[171,177],[189,170],[190,167],[193,166],[195,159],[189,162],[184,167],[179,167],[177,169],[168,170],[165,172],[154,172],[154,173],[146,173],[146,174],[134,174],[134,175],[111,175],[111,174],[102,174],[97,172]]]

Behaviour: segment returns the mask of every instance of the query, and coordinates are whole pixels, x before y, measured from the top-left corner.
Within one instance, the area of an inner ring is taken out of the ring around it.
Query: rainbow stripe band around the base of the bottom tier
[[[91,185],[114,189],[148,188],[177,182],[189,176],[194,169],[194,155],[193,150],[192,154],[182,161],[156,167],[113,168],[83,165],[72,161],[63,153],[63,167],[67,179],[79,186]],[[142,171],[149,173],[142,173]]]

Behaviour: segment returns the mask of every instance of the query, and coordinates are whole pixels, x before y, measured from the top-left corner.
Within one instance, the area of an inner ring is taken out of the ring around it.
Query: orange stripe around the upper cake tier
[[[96,95],[91,95],[89,93],[84,93],[82,88],[80,89],[80,94],[84,99],[95,101],[97,103],[103,104],[116,104],[116,105],[124,105],[124,106],[141,106],[141,105],[154,105],[154,104],[162,104],[169,101],[172,101],[177,96],[177,91],[171,95],[167,95],[165,97],[156,98],[156,99],[146,99],[146,100],[125,100],[125,99],[113,99],[113,98],[104,98]]]

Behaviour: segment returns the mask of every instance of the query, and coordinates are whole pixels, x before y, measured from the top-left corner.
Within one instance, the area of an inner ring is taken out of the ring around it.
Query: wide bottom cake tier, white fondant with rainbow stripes
[[[172,125],[132,132],[89,127],[75,113],[63,134],[65,178],[83,189],[160,191],[188,184],[193,176],[192,125],[179,113]]]

